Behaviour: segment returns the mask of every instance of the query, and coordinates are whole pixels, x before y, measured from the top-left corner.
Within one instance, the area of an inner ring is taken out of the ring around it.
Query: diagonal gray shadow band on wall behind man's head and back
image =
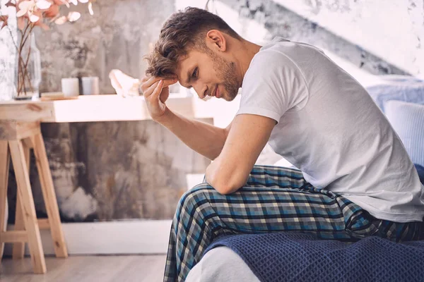
[[[341,1],[332,2],[338,3]],[[349,42],[335,35],[333,32],[326,30],[324,27],[320,27],[317,23],[307,18],[302,18],[302,16],[288,10],[281,4],[276,3],[276,1],[226,0],[222,1],[222,3],[216,1],[218,15],[224,18],[224,20],[225,13],[220,13],[220,11],[225,11],[225,6],[238,11],[240,19],[247,18],[263,25],[269,32],[266,35],[266,41],[280,36],[293,41],[306,42],[317,47],[322,47],[373,75],[411,75],[407,71],[388,63],[376,54],[372,54],[370,51],[361,48],[354,42]],[[254,35],[249,35],[249,30],[241,29],[237,31],[242,36],[254,38]],[[264,39],[257,38],[257,40],[263,41]]]

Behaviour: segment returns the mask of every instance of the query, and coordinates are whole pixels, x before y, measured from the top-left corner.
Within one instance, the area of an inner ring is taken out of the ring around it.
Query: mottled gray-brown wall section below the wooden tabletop
[[[170,219],[187,190],[186,174],[208,165],[153,121],[46,123],[42,134],[64,221]],[[33,154],[31,163],[35,206],[45,216]],[[16,182],[9,176],[13,221]]]

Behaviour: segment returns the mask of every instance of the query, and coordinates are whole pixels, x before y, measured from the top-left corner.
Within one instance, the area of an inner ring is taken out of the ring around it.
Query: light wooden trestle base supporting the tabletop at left
[[[48,219],[37,219],[35,214],[29,177],[30,149],[34,149]],[[7,226],[4,217],[9,155],[12,157],[18,191],[16,193],[15,228],[13,231],[4,231]],[[56,256],[68,257],[40,123],[0,121],[0,254],[4,250],[4,243],[13,243],[13,259],[21,259],[24,255],[25,242],[28,242],[34,272],[44,274],[46,264],[40,228],[50,228]]]

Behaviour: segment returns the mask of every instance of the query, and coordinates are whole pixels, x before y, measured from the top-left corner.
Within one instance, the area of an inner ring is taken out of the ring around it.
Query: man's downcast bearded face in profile
[[[182,86],[193,87],[201,99],[215,96],[232,101],[237,96],[240,85],[235,63],[223,59],[213,51],[189,51],[178,63],[177,76]]]

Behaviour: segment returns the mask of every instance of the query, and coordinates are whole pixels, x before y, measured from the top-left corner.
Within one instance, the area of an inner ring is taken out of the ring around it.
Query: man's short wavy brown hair
[[[160,30],[153,52],[146,57],[146,75],[165,78],[175,76],[179,59],[189,49],[208,51],[206,33],[214,29],[241,39],[222,18],[201,8],[188,7],[172,14]]]

